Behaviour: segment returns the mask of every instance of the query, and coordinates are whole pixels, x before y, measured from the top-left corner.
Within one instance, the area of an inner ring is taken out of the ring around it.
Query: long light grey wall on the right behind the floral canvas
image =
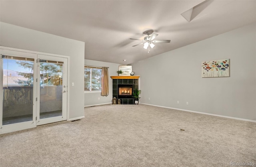
[[[230,59],[230,77],[202,78],[201,62],[217,59]],[[132,69],[140,75],[142,103],[256,120],[255,64],[254,23],[133,63]]]

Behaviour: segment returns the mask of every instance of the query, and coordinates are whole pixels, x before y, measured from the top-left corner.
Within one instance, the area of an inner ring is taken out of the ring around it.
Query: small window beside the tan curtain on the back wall
[[[101,92],[101,68],[84,67],[84,91]]]

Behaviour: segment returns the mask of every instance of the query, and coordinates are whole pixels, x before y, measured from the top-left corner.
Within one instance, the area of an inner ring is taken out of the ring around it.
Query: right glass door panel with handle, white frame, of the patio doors
[[[67,59],[38,55],[37,125],[67,119]]]

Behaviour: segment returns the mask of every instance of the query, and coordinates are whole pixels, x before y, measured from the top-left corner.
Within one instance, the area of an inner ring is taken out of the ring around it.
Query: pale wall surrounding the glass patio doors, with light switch
[[[0,22],[0,45],[70,56],[69,118],[84,116],[84,42]]]

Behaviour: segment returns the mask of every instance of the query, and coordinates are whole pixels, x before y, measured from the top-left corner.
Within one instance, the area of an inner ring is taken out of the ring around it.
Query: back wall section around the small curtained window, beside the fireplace
[[[84,65],[108,68],[109,95],[101,96],[100,93],[84,93],[84,106],[94,106],[99,104],[111,103],[112,99],[112,79],[110,76],[116,76],[119,64],[107,63],[103,61],[84,60]],[[100,100],[98,100],[100,98]]]

